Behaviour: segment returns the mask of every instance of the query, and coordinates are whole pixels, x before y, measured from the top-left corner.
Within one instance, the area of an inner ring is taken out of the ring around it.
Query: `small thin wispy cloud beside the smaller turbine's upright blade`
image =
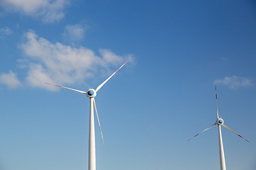
[[[252,86],[252,81],[245,77],[224,77],[224,79],[215,79],[214,84],[223,84],[231,89],[236,89],[238,87]]]

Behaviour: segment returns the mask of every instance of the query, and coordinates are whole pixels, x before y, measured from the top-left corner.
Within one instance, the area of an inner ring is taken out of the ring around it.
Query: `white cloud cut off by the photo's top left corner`
[[[46,23],[59,21],[65,16],[63,8],[68,0],[2,0],[6,11],[15,11],[27,16],[40,16]]]

